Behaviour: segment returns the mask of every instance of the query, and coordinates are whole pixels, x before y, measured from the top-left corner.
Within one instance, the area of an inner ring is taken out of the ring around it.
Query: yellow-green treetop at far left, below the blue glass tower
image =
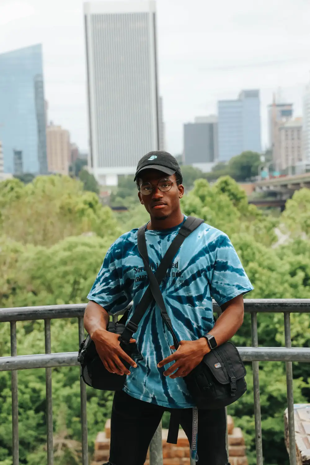
[[[23,244],[49,246],[67,236],[115,237],[119,231],[110,208],[68,176],[38,176],[26,186],[17,179],[3,181],[0,206],[2,233]]]

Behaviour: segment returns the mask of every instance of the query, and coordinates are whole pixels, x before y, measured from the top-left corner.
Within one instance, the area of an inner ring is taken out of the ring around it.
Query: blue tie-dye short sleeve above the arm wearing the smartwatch
[[[254,289],[226,234],[224,238],[221,236],[216,249],[210,286],[211,295],[218,306]]]

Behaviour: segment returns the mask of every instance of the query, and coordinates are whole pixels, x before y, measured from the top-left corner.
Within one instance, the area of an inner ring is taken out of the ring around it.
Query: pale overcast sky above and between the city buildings
[[[0,53],[43,44],[49,120],[86,149],[82,6],[82,0],[0,0]],[[157,25],[171,153],[183,149],[183,123],[216,113],[217,100],[235,99],[241,89],[261,90],[263,147],[273,92],[301,115],[310,81],[310,0],[157,0]]]

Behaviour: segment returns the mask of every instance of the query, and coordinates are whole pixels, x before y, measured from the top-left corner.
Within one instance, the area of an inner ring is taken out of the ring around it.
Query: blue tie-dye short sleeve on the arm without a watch
[[[87,299],[97,302],[112,315],[123,310],[132,300],[129,290],[125,289],[121,267],[118,270],[115,265],[113,245],[106,252],[97,278],[87,295]]]

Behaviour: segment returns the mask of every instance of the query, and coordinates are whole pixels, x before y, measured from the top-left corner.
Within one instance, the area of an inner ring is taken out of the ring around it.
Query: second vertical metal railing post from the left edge
[[[51,353],[51,320],[44,320],[45,353]],[[53,394],[52,394],[52,368],[45,369],[46,383],[46,444],[47,444],[47,465],[54,464],[53,451]]]

